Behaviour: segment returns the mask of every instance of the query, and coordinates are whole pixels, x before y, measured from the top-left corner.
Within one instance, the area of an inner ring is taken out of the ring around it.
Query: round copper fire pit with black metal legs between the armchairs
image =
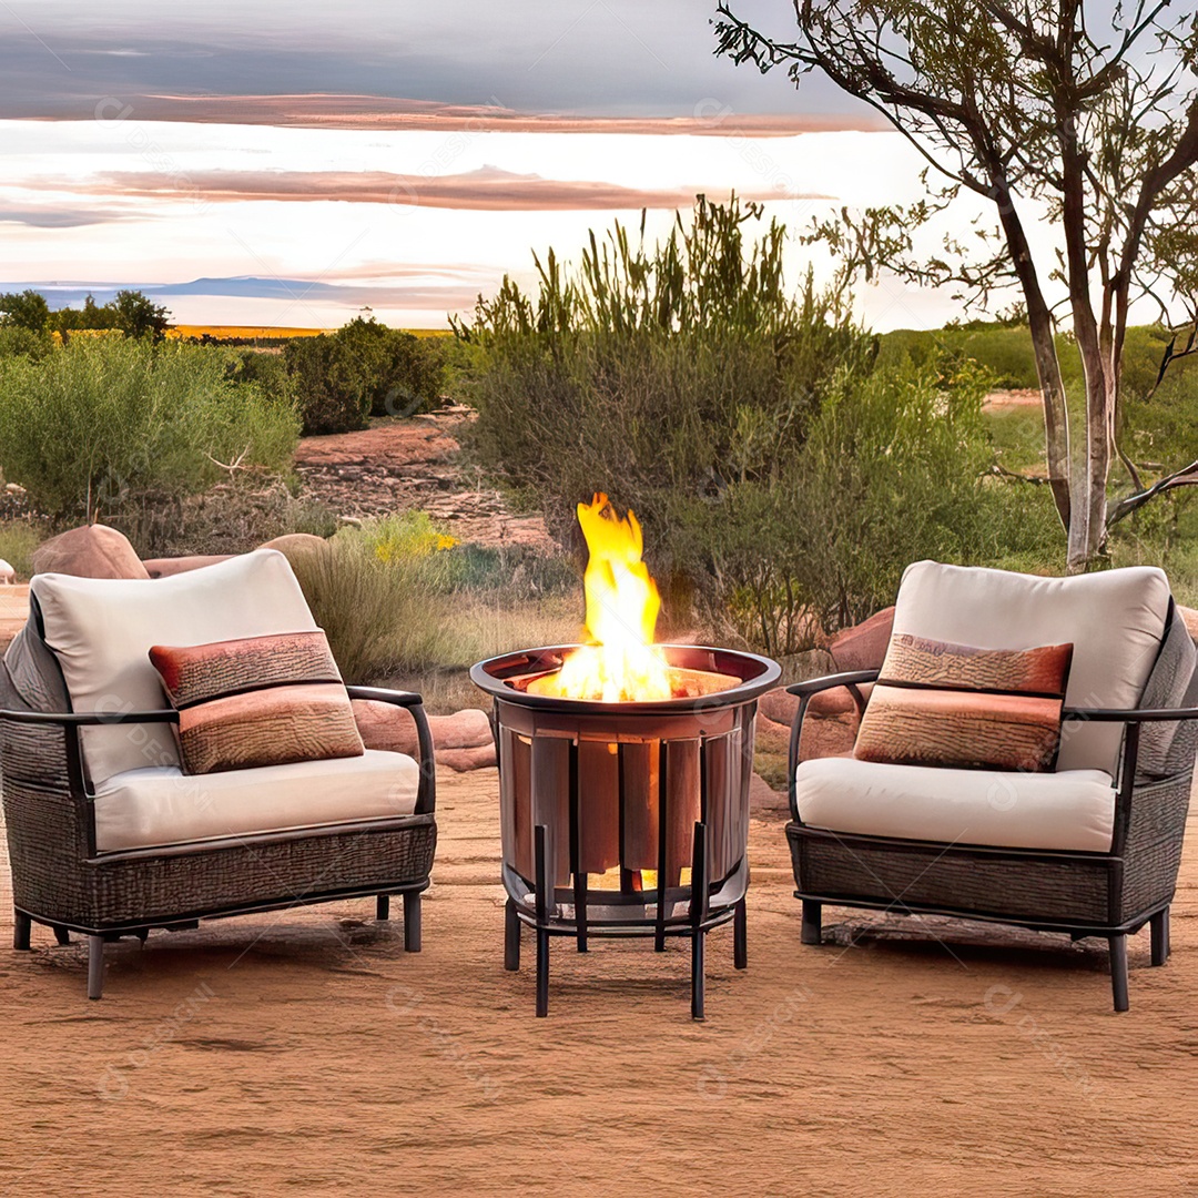
[[[471,670],[494,700],[506,966],[519,968],[521,924],[533,927],[545,1015],[550,936],[576,937],[580,952],[588,936],[653,936],[659,951],[667,936],[689,936],[691,1014],[702,1018],[704,934],[733,920],[736,966],[745,967],[754,721],[780,667],[667,645],[691,697],[605,703],[527,689],[574,648],[525,649]]]

